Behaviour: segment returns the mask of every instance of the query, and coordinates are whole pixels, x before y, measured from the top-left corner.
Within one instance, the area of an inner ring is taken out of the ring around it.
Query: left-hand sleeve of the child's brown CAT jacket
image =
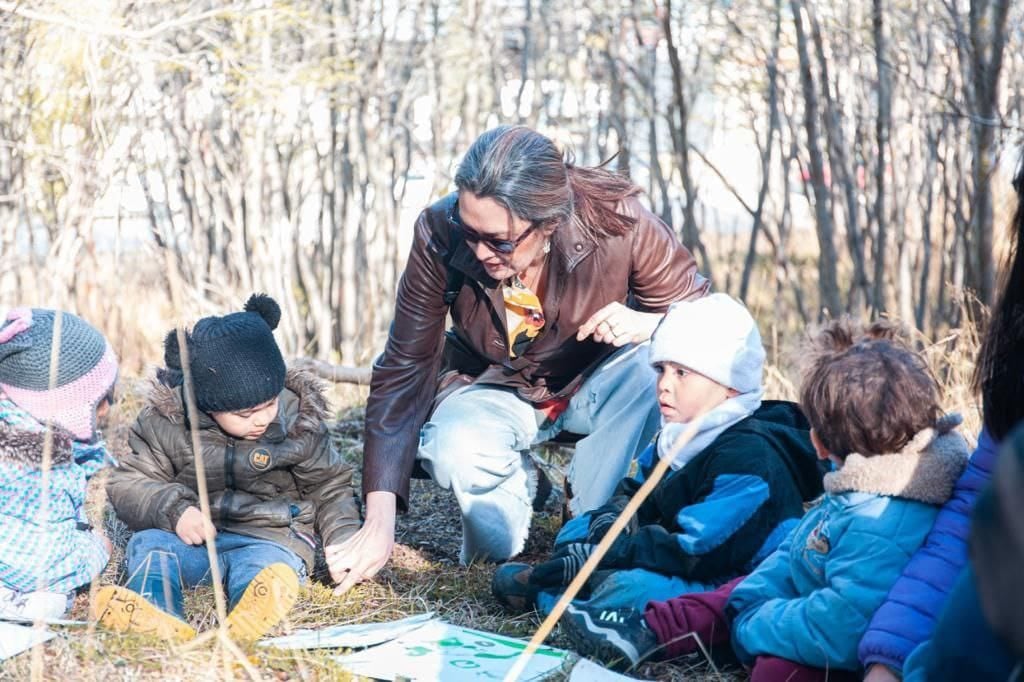
[[[161,438],[161,418],[144,409],[128,434],[131,453],[121,459],[106,479],[106,496],[118,517],[132,530],[160,528],[174,532],[181,514],[199,507],[199,496],[174,480],[174,465],[165,454],[171,443]],[[164,429],[170,435],[172,429]]]

